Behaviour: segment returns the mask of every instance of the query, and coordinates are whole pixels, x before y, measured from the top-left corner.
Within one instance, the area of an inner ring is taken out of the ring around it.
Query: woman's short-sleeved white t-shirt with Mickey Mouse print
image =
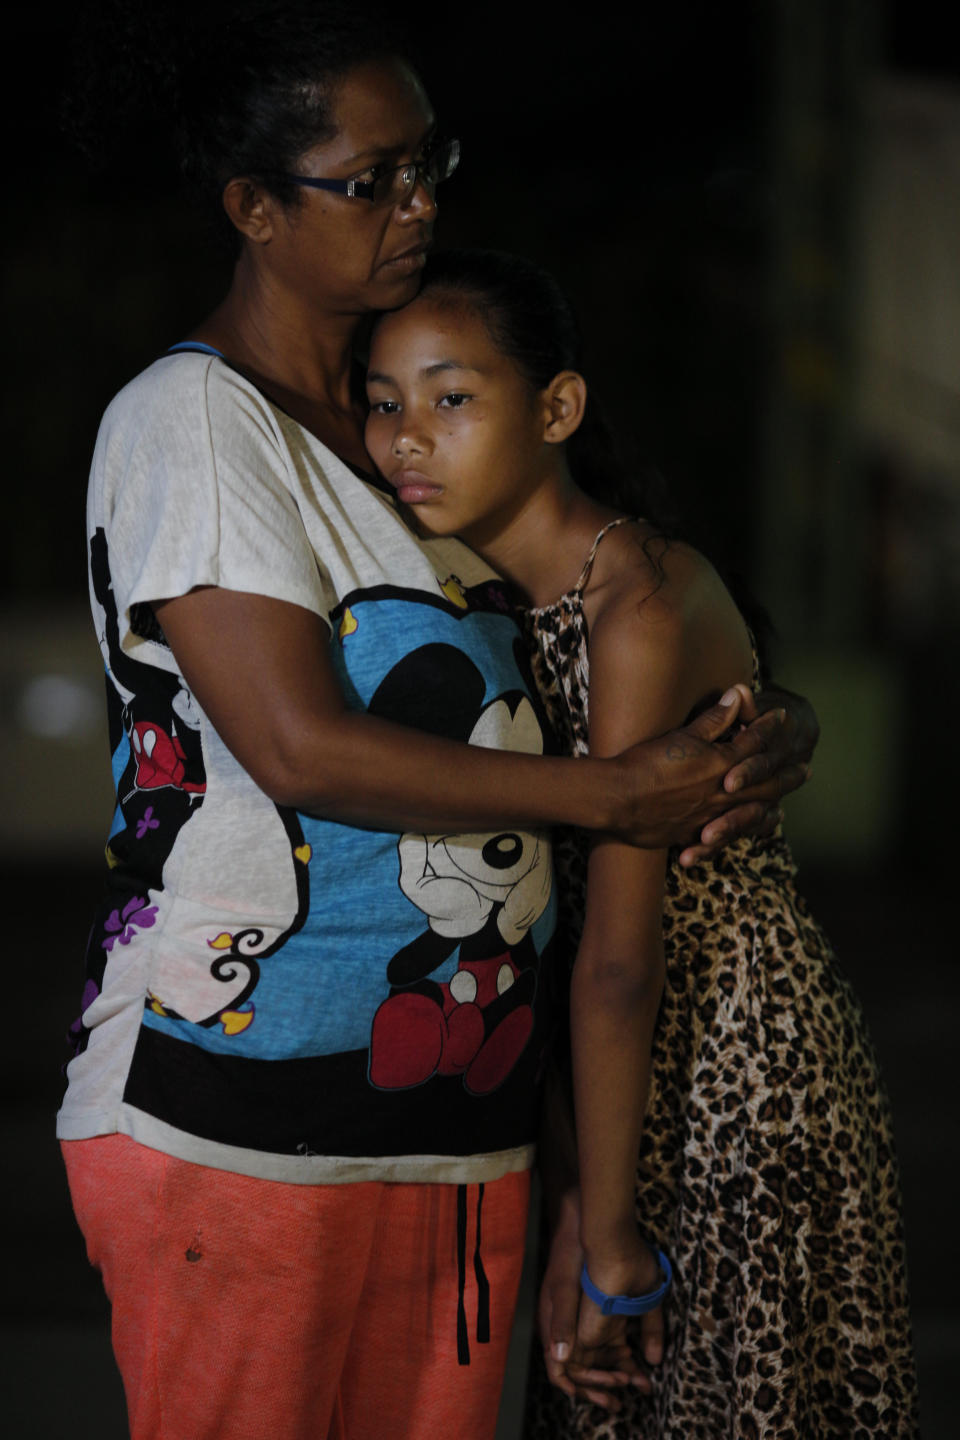
[[[273,804],[151,609],[200,585],[302,605],[330,626],[348,707],[538,753],[494,573],[417,539],[390,494],[199,353],[158,360],[107,410],[88,533],[117,811],[59,1135],[119,1130],[304,1184],[530,1165],[548,840],[354,829]]]

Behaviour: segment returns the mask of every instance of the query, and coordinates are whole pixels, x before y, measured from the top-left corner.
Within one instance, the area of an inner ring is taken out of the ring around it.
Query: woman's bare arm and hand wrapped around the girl
[[[744,824],[756,828],[802,782],[797,768],[777,769],[776,713],[712,743],[738,700],[616,759],[466,747],[348,710],[328,631],[298,605],[209,586],[154,611],[190,690],[256,783],[278,804],[345,824],[438,831],[566,822],[638,845],[681,844],[710,821],[723,840]],[[747,757],[770,766],[771,778],[728,795],[724,776]]]

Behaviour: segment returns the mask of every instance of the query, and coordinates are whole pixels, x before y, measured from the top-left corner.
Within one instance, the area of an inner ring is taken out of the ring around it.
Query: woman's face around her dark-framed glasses
[[[420,81],[399,59],[350,71],[331,108],[337,132],[299,157],[298,174],[348,180],[402,166],[422,156],[435,128]],[[302,187],[301,203],[276,217],[271,265],[307,304],[348,315],[393,310],[416,294],[435,217],[422,183],[403,206]]]

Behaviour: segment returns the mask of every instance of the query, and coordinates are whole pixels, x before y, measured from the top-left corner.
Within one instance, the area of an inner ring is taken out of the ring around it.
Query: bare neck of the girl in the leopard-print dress
[[[541,606],[573,589],[597,533],[617,513],[577,490],[564,467],[495,536],[462,539]]]

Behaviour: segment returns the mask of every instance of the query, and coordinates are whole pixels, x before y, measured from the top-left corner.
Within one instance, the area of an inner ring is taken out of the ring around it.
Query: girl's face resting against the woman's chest
[[[384,315],[367,395],[367,451],[429,534],[482,549],[544,481],[553,446],[543,392],[465,301],[427,294]]]

